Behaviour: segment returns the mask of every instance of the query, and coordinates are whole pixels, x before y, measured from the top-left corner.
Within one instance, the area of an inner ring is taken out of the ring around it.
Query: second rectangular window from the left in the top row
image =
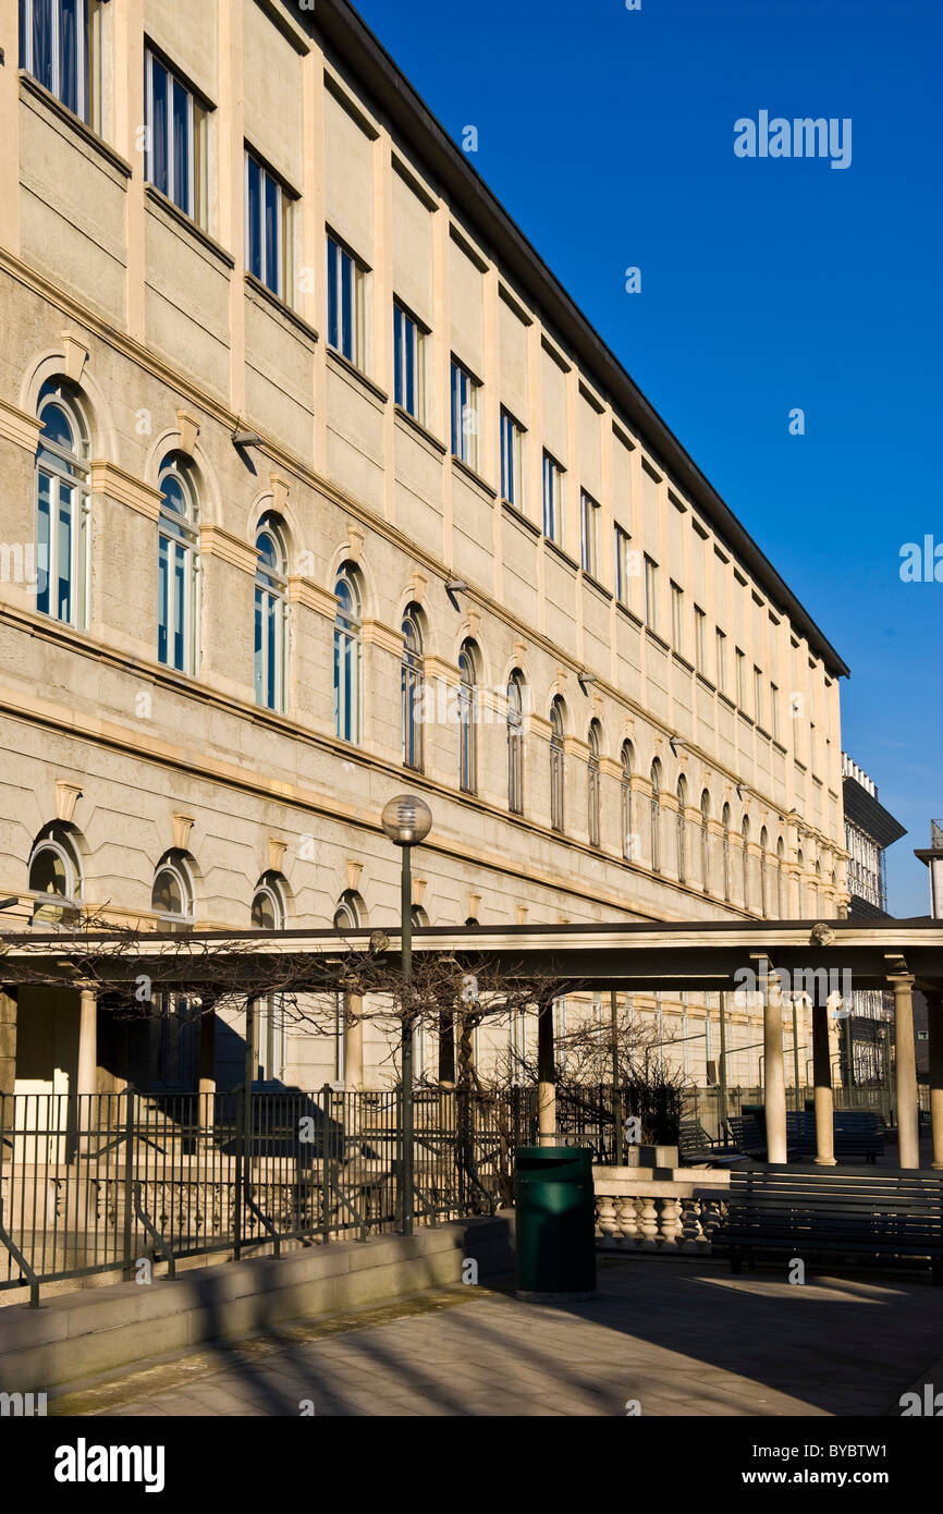
[[[150,47],[144,53],[144,164],[160,194],[206,226],[206,106]]]

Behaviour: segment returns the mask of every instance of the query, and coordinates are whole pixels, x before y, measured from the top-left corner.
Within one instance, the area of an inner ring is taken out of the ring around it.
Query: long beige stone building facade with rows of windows
[[[5,922],[394,925],[410,789],[418,924],[843,914],[848,669],[356,12],[0,35]],[[79,995],[3,1005],[0,1086],[82,1086]]]

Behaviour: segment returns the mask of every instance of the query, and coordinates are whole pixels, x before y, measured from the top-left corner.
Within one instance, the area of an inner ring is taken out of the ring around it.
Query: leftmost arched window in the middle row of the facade
[[[88,595],[89,442],[85,416],[68,386],[39,391],[36,448],[36,610],[83,627]]]

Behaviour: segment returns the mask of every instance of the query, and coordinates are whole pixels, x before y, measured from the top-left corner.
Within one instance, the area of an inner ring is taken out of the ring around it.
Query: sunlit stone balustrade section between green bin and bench
[[[593,1167],[596,1238],[608,1252],[708,1255],[730,1173],[693,1167]]]

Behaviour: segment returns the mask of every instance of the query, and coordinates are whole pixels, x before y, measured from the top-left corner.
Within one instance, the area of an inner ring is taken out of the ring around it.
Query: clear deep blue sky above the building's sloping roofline
[[[899,565],[943,544],[943,5],[359,11],[842,653],[843,745],[910,833],[890,908],[926,914],[943,583]],[[761,109],[849,117],[851,167],[736,157]]]

